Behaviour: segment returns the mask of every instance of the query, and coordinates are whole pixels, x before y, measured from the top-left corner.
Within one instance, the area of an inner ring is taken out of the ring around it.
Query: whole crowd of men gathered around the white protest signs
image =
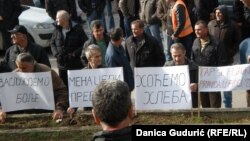
[[[4,37],[6,53],[0,63],[0,71],[51,71],[56,79],[62,80],[58,86],[67,91],[68,70],[123,67],[126,83],[101,83],[93,96],[95,120],[104,130],[113,131],[112,128],[122,128],[125,123],[128,125],[132,117],[129,95],[134,89],[135,67],[188,65],[192,104],[196,108],[198,66],[229,66],[234,63],[238,53],[241,63],[249,62],[250,0],[233,0],[232,14],[229,14],[225,5],[219,5],[218,0],[116,0],[120,28],[115,28],[118,25],[114,24],[112,2],[113,0],[39,1],[39,6],[44,6],[48,15],[56,21],[50,45],[58,64],[57,76],[50,69],[46,52],[30,41],[25,27],[13,22],[17,21],[20,14],[20,2],[1,0],[0,31]],[[5,8],[7,10],[2,10]],[[108,23],[104,15],[105,8]],[[82,26],[85,22],[91,29],[90,38],[86,36]],[[27,64],[31,67],[28,71],[23,69]],[[123,100],[122,103],[126,105],[112,105],[114,99],[104,100],[102,93],[114,94],[110,97]],[[60,97],[63,99],[65,95],[60,94]],[[232,92],[225,91],[223,96],[225,107],[231,108]],[[204,108],[220,108],[221,99],[221,92],[201,93],[201,105]],[[60,100],[56,101],[58,105]],[[57,106],[61,112],[55,111],[54,119],[61,118],[62,111],[68,111],[71,115],[76,112],[68,107],[68,102],[63,103],[64,106]],[[248,90],[247,106],[249,105]],[[112,107],[120,107],[119,112],[125,111],[118,114],[118,111],[112,111]],[[104,109],[109,112],[103,111]],[[103,115],[104,112],[112,114]],[[120,114],[122,117],[115,116]],[[2,115],[1,117],[0,113],[0,121],[4,121],[5,113]],[[122,133],[127,134],[129,130],[125,129]],[[95,138],[103,138],[108,134],[109,132],[103,132]]]

